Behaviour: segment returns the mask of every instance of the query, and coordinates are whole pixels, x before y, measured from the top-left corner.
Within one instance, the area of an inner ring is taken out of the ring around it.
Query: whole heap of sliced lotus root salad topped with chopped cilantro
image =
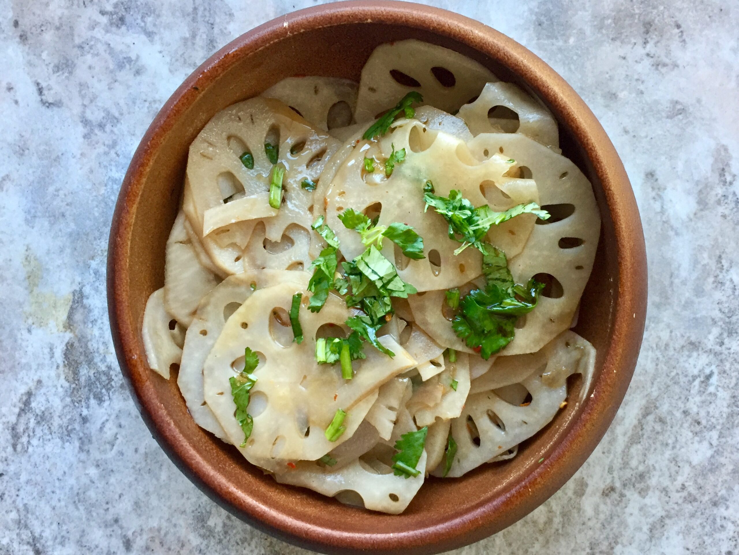
[[[149,366],[179,365],[195,422],[277,482],[399,514],[582,403],[599,232],[536,98],[382,44],[358,84],[286,78],[197,135]]]

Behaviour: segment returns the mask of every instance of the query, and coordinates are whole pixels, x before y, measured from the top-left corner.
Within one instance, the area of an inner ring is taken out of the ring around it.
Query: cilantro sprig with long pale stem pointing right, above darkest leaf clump
[[[470,245],[479,249],[484,255],[486,253],[484,239],[490,226],[499,225],[517,215],[530,212],[542,220],[549,218],[549,213],[539,209],[539,205],[534,202],[519,204],[505,212],[493,212],[487,204],[475,208],[462,196],[460,191],[454,189],[449,191],[449,198],[426,192],[423,195],[423,201],[426,202],[426,210],[432,206],[449,222],[449,238],[462,243],[462,246],[454,251],[455,255]]]

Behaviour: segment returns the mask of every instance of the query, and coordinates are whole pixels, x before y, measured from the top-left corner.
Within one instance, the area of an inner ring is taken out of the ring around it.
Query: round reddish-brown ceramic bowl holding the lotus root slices
[[[598,349],[593,393],[585,403],[568,405],[514,460],[460,479],[432,478],[403,514],[390,516],[279,485],[202,431],[189,417],[174,377],[163,380],[146,365],[140,330],[146,299],[163,284],[164,247],[188,146],[211,116],[290,75],[358,81],[375,46],[402,38],[457,50],[539,95],[559,121],[565,155],[593,183],[603,223],[576,328]],[[582,465],[616,414],[636,365],[646,299],[644,236],[633,192],[616,150],[582,99],[510,38],[463,16],[403,2],[339,2],[302,10],[251,30],[212,55],[146,132],[123,181],[110,234],[113,340],[151,433],[228,511],[325,553],[437,553],[494,534],[534,510]]]

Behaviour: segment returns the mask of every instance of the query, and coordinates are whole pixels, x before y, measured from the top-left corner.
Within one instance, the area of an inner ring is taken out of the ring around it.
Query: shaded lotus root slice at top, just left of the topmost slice
[[[282,101],[313,127],[327,131],[352,123],[357,87],[355,81],[338,77],[288,77],[262,96]]]

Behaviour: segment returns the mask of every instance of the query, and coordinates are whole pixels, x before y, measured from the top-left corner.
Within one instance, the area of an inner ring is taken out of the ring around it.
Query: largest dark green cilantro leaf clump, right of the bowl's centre
[[[457,337],[471,349],[480,349],[485,360],[503,349],[514,337],[517,317],[537,306],[542,283],[534,279],[526,286],[514,283],[505,253],[486,243],[483,255],[484,289],[473,289],[460,300],[460,312],[452,321]]]

